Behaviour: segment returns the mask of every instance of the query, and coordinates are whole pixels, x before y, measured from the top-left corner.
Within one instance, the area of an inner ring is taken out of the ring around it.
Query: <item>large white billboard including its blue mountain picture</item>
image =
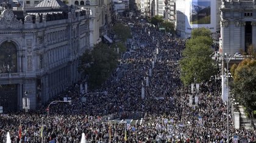
[[[216,0],[189,0],[185,7],[185,33],[201,27],[216,33]]]

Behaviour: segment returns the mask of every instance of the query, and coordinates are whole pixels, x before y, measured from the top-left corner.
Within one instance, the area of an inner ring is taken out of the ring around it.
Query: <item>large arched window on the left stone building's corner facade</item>
[[[17,72],[17,48],[13,42],[4,42],[0,46],[0,73]]]

